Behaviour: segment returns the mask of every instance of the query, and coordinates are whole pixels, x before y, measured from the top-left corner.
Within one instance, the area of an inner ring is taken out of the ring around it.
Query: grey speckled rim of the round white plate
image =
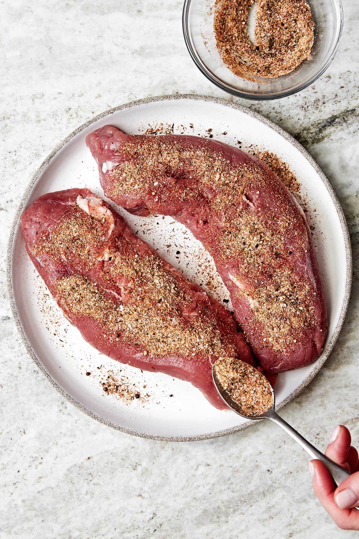
[[[156,434],[148,434],[145,432],[138,432],[135,430],[126,429],[125,427],[118,425],[117,423],[112,423],[111,421],[108,421],[104,419],[103,417],[98,416],[96,413],[89,410],[86,406],[83,406],[81,403],[75,400],[71,395],[67,393],[67,391],[64,390],[64,388],[62,388],[59,384],[57,384],[57,382],[54,381],[50,373],[45,369],[44,365],[40,362],[37,355],[34,353],[34,350],[32,349],[30,341],[28,340],[25,334],[25,331],[22,327],[22,323],[20,322],[20,318],[17,312],[16,302],[15,302],[15,293],[13,290],[13,283],[12,283],[13,241],[15,238],[15,233],[17,231],[18,224],[19,224],[19,218],[22,211],[24,210],[26,206],[27,199],[29,198],[34,185],[39,179],[41,172],[45,170],[45,168],[50,163],[52,158],[65,146],[65,144],[68,141],[70,141],[75,135],[80,133],[83,129],[90,126],[91,123],[94,123],[97,120],[101,120],[101,118],[105,118],[105,116],[118,112],[119,110],[124,110],[130,107],[136,107],[138,105],[145,105],[146,103],[152,103],[156,101],[168,101],[168,100],[173,100],[173,101],[174,100],[176,101],[177,100],[198,100],[198,101],[212,102],[218,105],[224,105],[228,108],[234,108],[234,109],[240,110],[244,114],[248,114],[252,118],[255,118],[256,120],[264,123],[266,126],[273,129],[276,133],[281,135],[286,141],[290,142],[292,146],[294,146],[297,150],[300,151],[300,153],[306,158],[309,164],[311,164],[314,170],[318,173],[321,181],[326,186],[329,192],[329,195],[332,198],[333,204],[335,206],[337,215],[340,220],[341,229],[342,229],[343,238],[344,238],[344,245],[346,248],[346,265],[347,265],[346,285],[345,285],[345,290],[344,290],[344,298],[343,298],[343,304],[342,304],[340,316],[337,321],[336,327],[334,329],[333,335],[330,338],[329,342],[326,343],[325,350],[322,352],[321,356],[319,357],[319,360],[316,363],[314,369],[305,378],[305,380],[291,393],[291,395],[289,395],[283,402],[281,402],[278,405],[277,410],[280,410],[281,408],[283,408],[283,406],[290,403],[295,397],[299,395],[299,393],[302,390],[306,388],[306,386],[313,380],[315,375],[318,374],[319,370],[321,369],[323,364],[326,362],[330,352],[333,350],[334,344],[339,336],[340,330],[342,328],[342,325],[343,325],[343,322],[347,313],[347,308],[348,308],[348,303],[349,303],[349,298],[350,298],[350,291],[351,291],[351,278],[352,278],[352,271],[353,271],[353,260],[352,260],[352,255],[351,255],[351,245],[350,245],[348,226],[347,226],[346,218],[344,217],[344,212],[340,205],[339,199],[337,198],[332,185],[329,183],[329,180],[327,179],[323,171],[320,169],[319,165],[314,161],[313,157],[309,155],[307,150],[304,147],[302,147],[301,144],[292,137],[292,135],[288,134],[284,129],[278,127],[271,120],[264,118],[264,116],[262,116],[261,114],[258,114],[257,112],[254,112],[253,110],[250,110],[247,107],[243,107],[242,105],[239,105],[238,103],[234,103],[232,101],[228,101],[223,98],[216,98],[216,97],[206,96],[206,95],[196,95],[196,94],[159,95],[156,97],[149,97],[145,99],[131,101],[130,103],[125,103],[124,105],[119,105],[117,107],[106,110],[105,112],[98,114],[94,118],[91,118],[87,122],[83,123],[80,127],[75,129],[64,140],[62,140],[59,144],[57,144],[57,146],[55,146],[55,148],[46,157],[43,163],[41,163],[40,167],[36,170],[33,177],[31,178],[29,185],[27,185],[27,188],[25,189],[24,195],[21,199],[21,202],[18,206],[18,209],[16,211],[15,217],[11,225],[10,237],[9,237],[9,243],[8,243],[8,252],[7,252],[7,258],[6,258],[6,280],[7,280],[7,285],[8,285],[8,293],[9,293],[9,300],[10,300],[12,315],[15,320],[17,330],[19,331],[20,337],[22,338],[24,346],[27,350],[27,353],[29,353],[34,363],[37,365],[37,367],[40,369],[43,375],[48,379],[51,385],[62,395],[62,397],[66,398],[71,404],[76,406],[76,408],[78,408],[82,412],[86,413],[88,416],[92,417],[93,419],[96,419],[97,421],[100,421],[100,423],[107,425],[109,427],[112,427],[112,429],[125,432],[126,434],[132,434],[132,436],[139,436],[141,438],[147,438],[147,439],[153,439],[153,440],[166,440],[166,441],[207,440],[210,438],[218,438],[220,436],[226,436],[227,434],[233,434],[234,432],[247,429],[247,427],[258,423],[258,421],[248,421],[247,423],[244,423],[242,425],[231,427],[231,429],[226,429],[223,431],[216,431],[216,432],[209,432],[206,434],[202,434],[201,436],[174,437],[174,436],[157,436]]]

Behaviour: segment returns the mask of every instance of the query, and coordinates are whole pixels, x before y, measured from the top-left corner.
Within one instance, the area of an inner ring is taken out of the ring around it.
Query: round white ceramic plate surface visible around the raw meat
[[[72,187],[88,187],[103,195],[85,137],[105,123],[133,134],[161,123],[173,124],[175,133],[208,136],[208,130],[212,129],[215,139],[234,146],[240,141],[243,149],[258,147],[273,151],[290,165],[302,183],[301,195],[307,198],[309,220],[315,226],[313,238],[323,275],[329,328],[325,349],[316,363],[279,375],[278,408],[312,380],[332,350],[344,320],[351,285],[351,251],[339,201],[318,165],[290,135],[247,108],[198,95],[149,98],[97,116],[52,151],[25,191],[9,243],[9,294],[24,344],[52,385],[91,417],[138,436],[194,440],[241,430],[251,423],[241,420],[234,412],[216,410],[191,384],[121,365],[91,348],[62,316],[27,257],[19,216],[38,196]],[[212,260],[182,225],[167,217],[140,218],[119,211],[141,238],[158,248],[159,254],[182,269],[188,279],[202,284],[220,301],[228,297]],[[141,397],[125,403],[116,395],[107,395],[101,381],[109,370],[114,377],[124,376]],[[91,374],[86,376],[86,372]]]

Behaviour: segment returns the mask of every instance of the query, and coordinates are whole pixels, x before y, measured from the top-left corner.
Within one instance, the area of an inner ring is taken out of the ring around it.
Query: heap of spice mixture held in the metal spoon
[[[216,381],[235,400],[242,416],[261,416],[272,407],[270,383],[248,363],[232,357],[221,357],[215,362],[213,370]]]

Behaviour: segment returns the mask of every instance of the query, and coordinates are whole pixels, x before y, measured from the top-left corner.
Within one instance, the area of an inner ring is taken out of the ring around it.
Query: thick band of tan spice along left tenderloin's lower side
[[[158,287],[156,298],[147,294],[146,289],[135,289],[135,301],[124,305],[106,298],[93,282],[81,275],[59,279],[57,290],[58,299],[69,313],[93,318],[110,341],[135,342],[139,351],[145,349],[144,355],[193,357],[201,354],[206,358],[227,349],[210,320],[195,316],[191,322],[184,321],[181,309],[188,302],[171,285],[165,285],[161,291]],[[230,347],[227,351],[231,351]]]

